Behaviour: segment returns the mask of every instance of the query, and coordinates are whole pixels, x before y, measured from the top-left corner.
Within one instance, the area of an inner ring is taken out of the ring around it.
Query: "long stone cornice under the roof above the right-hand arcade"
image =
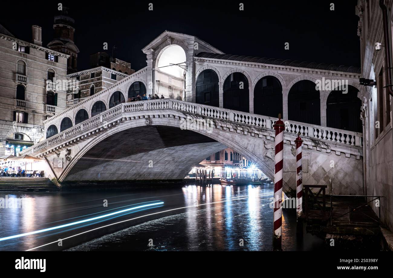
[[[312,75],[331,75],[337,77],[347,77],[359,79],[361,77],[360,73],[349,73],[344,71],[329,71],[329,70],[318,70],[311,68],[298,68],[292,66],[280,66],[280,65],[272,65],[272,64],[262,64],[255,62],[241,62],[241,61],[233,61],[233,60],[222,60],[222,59],[211,59],[211,58],[202,58],[202,57],[194,57],[194,61],[196,62],[209,62],[212,64],[225,64],[230,66],[245,66],[251,68],[261,68],[267,70],[281,70],[281,71],[291,71],[297,73],[309,73]]]

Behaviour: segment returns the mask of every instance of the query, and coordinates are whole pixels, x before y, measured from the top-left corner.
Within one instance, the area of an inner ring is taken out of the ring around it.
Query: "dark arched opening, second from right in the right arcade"
[[[288,93],[288,120],[321,125],[320,92],[310,80],[298,81]]]

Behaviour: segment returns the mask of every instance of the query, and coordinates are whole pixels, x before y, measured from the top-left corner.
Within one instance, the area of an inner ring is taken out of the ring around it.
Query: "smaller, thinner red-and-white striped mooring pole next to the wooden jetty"
[[[297,226],[296,226],[296,234],[298,236],[303,235],[303,222],[300,219],[300,216],[303,212],[303,172],[301,168],[301,144],[303,140],[300,138],[300,132],[298,133],[298,138],[295,140],[296,143],[296,213],[297,217]]]

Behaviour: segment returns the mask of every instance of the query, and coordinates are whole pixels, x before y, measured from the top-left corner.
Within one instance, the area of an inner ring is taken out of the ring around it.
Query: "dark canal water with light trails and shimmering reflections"
[[[29,202],[0,209],[0,251],[270,251],[272,196],[271,184],[10,192]],[[283,211],[282,240],[284,251],[324,248],[296,237],[293,210]]]

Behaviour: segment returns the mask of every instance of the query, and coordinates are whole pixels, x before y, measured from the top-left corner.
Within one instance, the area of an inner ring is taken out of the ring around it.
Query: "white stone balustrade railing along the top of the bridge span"
[[[34,145],[23,152],[21,155],[34,154],[40,150],[46,149],[52,144],[56,144],[64,139],[68,139],[77,135],[84,130],[98,127],[103,122],[112,119],[122,113],[149,111],[149,110],[177,110],[191,115],[200,115],[202,117],[208,117],[211,119],[217,119],[221,121],[228,121],[230,123],[242,124],[245,126],[255,128],[265,128],[267,130],[273,130],[273,124],[277,121],[277,118],[255,115],[246,112],[239,112],[235,110],[229,110],[219,107],[213,107],[203,104],[196,104],[185,101],[178,101],[176,99],[154,99],[149,101],[136,101],[136,102],[125,102],[118,104],[99,115],[87,119],[82,123],[79,123],[59,134],[53,135],[46,139],[42,143]],[[362,134],[357,132],[339,130],[329,128],[325,126],[317,126],[306,123],[298,123],[294,121],[285,121],[285,132],[297,135],[298,132],[302,136],[307,136],[312,139],[319,139],[323,141],[331,141],[333,143],[340,143],[350,146],[362,147]]]

